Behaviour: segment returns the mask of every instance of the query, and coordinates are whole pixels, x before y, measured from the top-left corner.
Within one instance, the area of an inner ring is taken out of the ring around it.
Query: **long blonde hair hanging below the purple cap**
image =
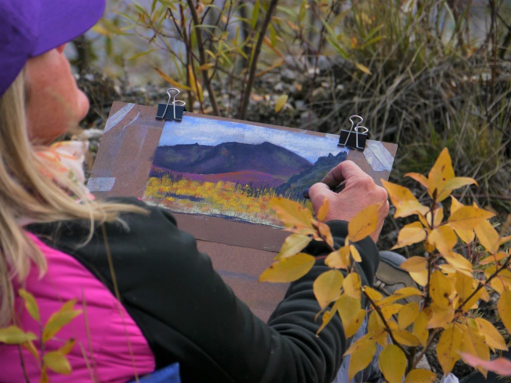
[[[120,212],[145,211],[137,206],[90,200],[83,188],[36,155],[27,129],[25,85],[22,71],[0,98],[0,326],[13,319],[13,280],[25,281],[31,262],[41,276],[47,268],[44,256],[27,237],[20,220],[87,220],[90,240],[97,223],[118,220]]]

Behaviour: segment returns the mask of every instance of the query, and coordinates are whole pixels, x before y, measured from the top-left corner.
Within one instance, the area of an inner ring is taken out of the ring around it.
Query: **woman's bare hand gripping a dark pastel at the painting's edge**
[[[344,189],[339,194],[332,192],[341,182]],[[343,161],[332,169],[321,182],[315,183],[309,189],[314,211],[326,198],[329,210],[324,221],[350,221],[355,215],[369,205],[382,202],[378,211],[378,226],[371,238],[376,242],[388,213],[387,191],[378,186],[373,178],[364,173],[353,161]]]

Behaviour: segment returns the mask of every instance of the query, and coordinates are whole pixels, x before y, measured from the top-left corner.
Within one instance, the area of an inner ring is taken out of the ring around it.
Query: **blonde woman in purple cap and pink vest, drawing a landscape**
[[[81,313],[47,342],[76,345],[66,376],[51,381],[123,382],[179,362],[184,382],[332,381],[346,350],[338,317],[315,336],[314,279],[328,249],[313,242],[312,270],[291,283],[268,324],[254,317],[177,229],[172,215],[134,199],[94,200],[83,185],[78,142],[51,145],[88,110],[63,43],[90,28],[104,0],[0,0],[0,322],[41,335],[52,313],[76,300]],[[330,186],[346,181],[341,194]],[[344,244],[346,222],[386,192],[345,161],[310,189],[315,209]],[[379,229],[388,211],[379,212]],[[378,230],[379,232],[379,230]],[[371,284],[375,241],[356,244]],[[37,320],[19,289],[34,295]],[[41,327],[42,326],[42,327]],[[41,364],[26,348],[0,344],[0,380],[35,381]]]

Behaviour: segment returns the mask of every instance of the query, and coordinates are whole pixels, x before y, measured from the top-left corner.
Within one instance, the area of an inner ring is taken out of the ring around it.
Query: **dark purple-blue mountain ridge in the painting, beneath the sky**
[[[160,146],[154,166],[181,173],[221,174],[255,171],[291,177],[312,166],[307,159],[270,142],[258,145],[223,142],[216,146]]]

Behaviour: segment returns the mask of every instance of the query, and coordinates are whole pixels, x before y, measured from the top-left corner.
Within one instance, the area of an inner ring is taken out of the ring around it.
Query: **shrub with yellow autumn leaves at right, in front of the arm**
[[[375,231],[379,205],[357,214],[349,222],[344,246],[335,248],[330,229],[322,222],[327,202],[314,219],[309,210],[278,198],[271,204],[285,230],[292,234],[260,281],[296,280],[315,262],[313,256],[301,252],[309,242],[324,241],[330,247],[325,264],[331,270],[318,276],[313,285],[322,315],[318,333],[339,315],[346,337],[351,337],[368,315],[367,333],[345,352],[352,355],[350,379],[369,365],[379,344],[383,347],[379,367],[387,381],[401,383],[405,378],[405,383],[433,382],[436,375],[432,371],[415,368],[433,341],[437,342],[436,355],[446,375],[460,359],[484,375],[487,370],[511,375],[507,361],[490,361],[491,352],[507,350],[502,333],[511,331],[511,254],[509,248],[502,249],[511,236],[499,236],[488,221],[494,216],[492,212],[475,204],[463,205],[451,196],[454,189],[476,181],[454,175],[447,149],[440,153],[428,177],[416,173],[407,176],[427,189],[428,205],[406,187],[382,183],[396,208],[394,217],[415,218],[400,230],[394,249],[424,243],[425,256],[412,256],[402,265],[419,289],[410,286],[384,297],[362,285],[356,273],[356,262],[362,259],[353,243]],[[445,201],[450,202],[449,209]],[[479,302],[489,301],[493,293],[500,296],[497,310],[505,330],[477,313]],[[414,298],[403,304],[403,298],[409,297]],[[367,307],[363,301],[368,302]]]

